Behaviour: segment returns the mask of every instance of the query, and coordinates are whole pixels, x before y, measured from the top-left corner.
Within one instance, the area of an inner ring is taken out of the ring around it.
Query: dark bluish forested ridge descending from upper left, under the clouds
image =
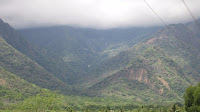
[[[24,39],[14,28],[9,24],[4,23],[0,19],[0,36],[5,41],[17,49],[22,54],[25,54],[32,60],[36,61],[45,70],[53,74],[58,79],[67,83],[75,77],[75,72],[62,60],[62,58],[44,48],[37,47]]]

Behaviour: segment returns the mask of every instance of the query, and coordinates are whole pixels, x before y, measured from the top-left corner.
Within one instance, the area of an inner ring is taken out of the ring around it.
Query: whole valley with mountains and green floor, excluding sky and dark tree
[[[52,111],[165,112],[183,105],[186,88],[198,82],[200,33],[193,22],[169,28],[15,30],[0,19],[5,112],[33,111],[33,102],[42,104],[35,109],[52,105]]]

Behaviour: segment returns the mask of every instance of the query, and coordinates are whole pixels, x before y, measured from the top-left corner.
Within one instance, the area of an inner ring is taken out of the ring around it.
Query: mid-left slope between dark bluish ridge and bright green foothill
[[[43,67],[21,54],[0,37],[0,66],[30,83],[40,87],[59,90],[66,89],[66,85]]]

